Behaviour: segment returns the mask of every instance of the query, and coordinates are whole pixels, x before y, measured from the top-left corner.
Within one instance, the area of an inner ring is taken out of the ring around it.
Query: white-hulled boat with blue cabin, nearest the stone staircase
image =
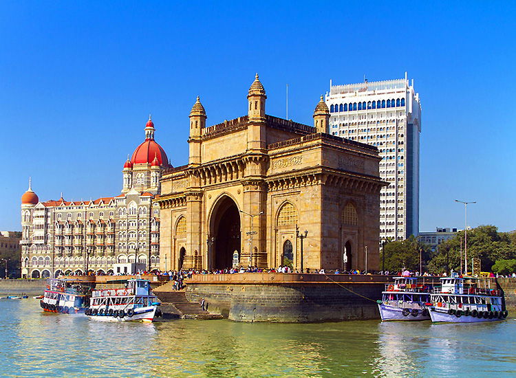
[[[85,311],[89,318],[103,322],[152,322],[161,316],[160,302],[151,291],[151,282],[131,278],[107,282],[110,288],[96,289]],[[118,287],[116,287],[118,286]]]

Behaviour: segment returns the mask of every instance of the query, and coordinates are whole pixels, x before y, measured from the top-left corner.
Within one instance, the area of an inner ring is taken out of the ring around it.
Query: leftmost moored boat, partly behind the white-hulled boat
[[[90,285],[87,281],[48,278],[40,306],[53,313],[83,313],[92,293]]]

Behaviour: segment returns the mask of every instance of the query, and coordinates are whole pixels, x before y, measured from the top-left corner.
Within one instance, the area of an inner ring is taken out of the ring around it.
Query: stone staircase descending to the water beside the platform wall
[[[172,291],[168,290],[163,285],[159,289],[153,291],[154,295],[162,302],[162,311],[166,314],[171,314],[171,318],[175,315],[182,319],[196,319],[196,320],[215,320],[223,319],[224,317],[219,313],[210,313],[203,310],[200,303],[190,302],[186,299],[184,290]]]

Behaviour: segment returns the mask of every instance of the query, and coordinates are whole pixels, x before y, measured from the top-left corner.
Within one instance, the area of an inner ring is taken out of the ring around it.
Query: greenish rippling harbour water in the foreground
[[[512,314],[511,314],[512,315]],[[0,300],[3,377],[514,377],[516,320],[105,323]]]

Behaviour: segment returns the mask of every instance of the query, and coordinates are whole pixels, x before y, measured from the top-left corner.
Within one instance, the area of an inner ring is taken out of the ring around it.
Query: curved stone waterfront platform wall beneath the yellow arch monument
[[[388,276],[216,274],[188,280],[186,297],[239,322],[379,319],[376,300]]]

